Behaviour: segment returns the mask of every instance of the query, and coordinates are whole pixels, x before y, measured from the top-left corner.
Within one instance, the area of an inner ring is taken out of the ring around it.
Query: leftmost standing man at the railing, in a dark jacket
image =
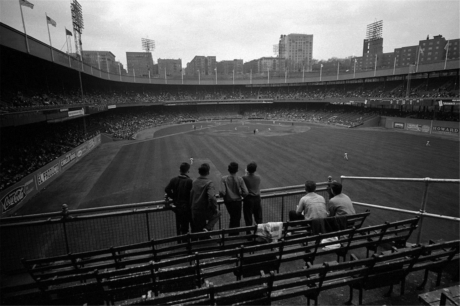
[[[179,167],[180,175],[172,178],[165,187],[167,196],[173,199],[173,211],[176,213],[176,228],[178,235],[184,235],[189,232],[189,224],[192,220],[190,209],[190,190],[192,189],[192,179],[187,173],[190,170],[190,164],[183,162]]]

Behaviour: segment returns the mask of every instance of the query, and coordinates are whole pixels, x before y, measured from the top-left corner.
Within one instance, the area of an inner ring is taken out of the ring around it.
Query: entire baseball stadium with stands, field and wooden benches
[[[417,72],[150,78],[0,23],[0,303],[459,305],[456,54]],[[229,228],[218,195],[229,163],[252,161],[270,240]],[[165,196],[182,162],[193,180],[210,167],[207,233],[181,234]],[[343,185],[344,227],[289,220],[310,180],[326,202]]]

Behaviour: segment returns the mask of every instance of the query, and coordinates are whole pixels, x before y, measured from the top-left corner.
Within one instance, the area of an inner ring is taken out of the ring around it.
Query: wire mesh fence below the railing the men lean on
[[[328,199],[326,187],[318,194]],[[262,195],[264,222],[286,221],[305,191],[280,191]],[[230,217],[222,200],[216,228],[226,228]],[[244,226],[244,220],[241,221]],[[129,245],[176,235],[175,214],[171,207],[135,209],[31,221],[0,226],[2,272],[21,269],[21,258],[33,259]]]

